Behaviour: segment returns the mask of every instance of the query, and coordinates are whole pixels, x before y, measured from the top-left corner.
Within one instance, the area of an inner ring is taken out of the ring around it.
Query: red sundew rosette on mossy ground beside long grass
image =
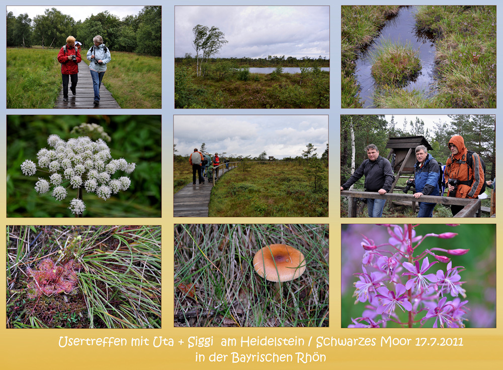
[[[38,298],[42,295],[66,293],[74,294],[77,290],[77,272],[80,265],[70,260],[63,266],[56,266],[51,259],[43,260],[37,270],[27,269],[33,280],[28,283],[28,297]]]

